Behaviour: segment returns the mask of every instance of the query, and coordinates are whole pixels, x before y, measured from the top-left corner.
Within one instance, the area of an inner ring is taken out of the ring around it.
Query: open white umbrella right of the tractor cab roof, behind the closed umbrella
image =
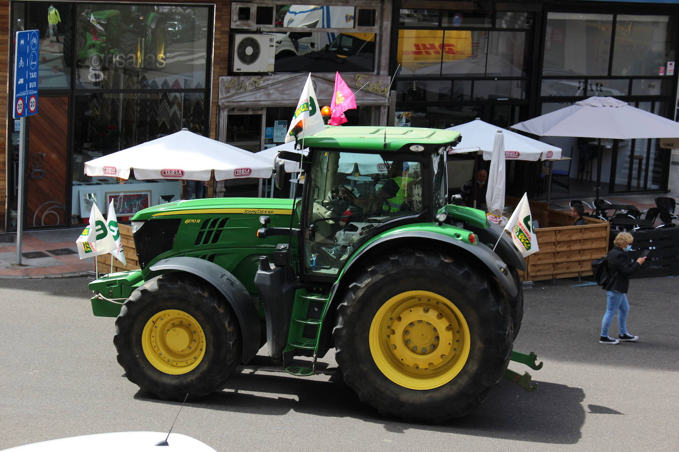
[[[462,142],[458,152],[469,152],[467,148],[477,147],[478,150],[483,151],[483,160],[491,159],[496,132],[500,129],[500,127],[481,121],[479,118],[469,123],[448,127],[448,130],[462,133]],[[504,156],[508,160],[561,159],[561,149],[556,146],[534,140],[511,130],[501,130],[504,136]]]

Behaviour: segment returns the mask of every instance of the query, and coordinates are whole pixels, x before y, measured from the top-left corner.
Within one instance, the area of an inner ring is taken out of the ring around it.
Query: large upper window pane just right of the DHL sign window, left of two
[[[608,75],[612,14],[549,13],[543,75]]]

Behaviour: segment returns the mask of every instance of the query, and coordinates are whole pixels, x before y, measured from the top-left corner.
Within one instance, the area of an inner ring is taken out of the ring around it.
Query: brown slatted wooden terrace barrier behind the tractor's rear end
[[[515,204],[518,202],[515,199]],[[526,272],[521,275],[524,281],[589,276],[591,261],[608,253],[608,222],[585,218],[586,226],[572,226],[570,213],[533,201],[530,213],[538,222],[535,234],[540,251],[526,258]]]

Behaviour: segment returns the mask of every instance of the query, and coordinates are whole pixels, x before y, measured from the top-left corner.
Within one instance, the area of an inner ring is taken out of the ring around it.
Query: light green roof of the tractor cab
[[[386,129],[386,134],[384,133]],[[342,126],[304,138],[304,147],[378,152],[435,152],[441,146],[454,146],[462,140],[459,132],[424,127]],[[420,145],[422,148],[412,148]]]

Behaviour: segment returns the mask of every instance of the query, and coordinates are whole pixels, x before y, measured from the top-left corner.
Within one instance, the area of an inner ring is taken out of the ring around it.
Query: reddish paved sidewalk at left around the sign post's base
[[[67,278],[94,270],[94,259],[78,258],[75,240],[82,228],[24,232],[17,265],[16,232],[0,234],[0,279]]]

